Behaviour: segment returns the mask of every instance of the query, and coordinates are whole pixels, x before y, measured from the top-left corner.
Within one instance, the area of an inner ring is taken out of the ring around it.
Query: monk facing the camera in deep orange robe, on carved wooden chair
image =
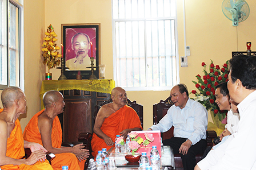
[[[97,114],[91,148],[93,156],[102,148],[109,150],[114,145],[115,136],[127,137],[131,131],[142,130],[141,122],[133,108],[126,105],[127,96],[124,89],[117,87],[111,92],[113,103],[103,105]]]

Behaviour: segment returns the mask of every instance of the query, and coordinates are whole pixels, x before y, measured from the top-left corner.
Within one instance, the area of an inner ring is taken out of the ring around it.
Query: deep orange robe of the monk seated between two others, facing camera
[[[115,137],[122,130],[127,128],[141,127],[141,121],[139,121],[138,114],[133,108],[125,105],[115,113],[111,114],[110,117],[106,118],[102,123],[101,130],[104,134],[109,136],[113,142],[115,142]],[[107,148],[109,150],[113,146],[107,146],[105,141],[99,138],[95,133],[93,134],[93,139],[91,139],[91,148],[93,150],[93,156],[96,157],[98,151],[102,148]]]

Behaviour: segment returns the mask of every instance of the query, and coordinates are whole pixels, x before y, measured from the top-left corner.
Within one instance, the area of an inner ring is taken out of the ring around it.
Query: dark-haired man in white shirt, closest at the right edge
[[[201,160],[198,169],[256,169],[256,57],[235,56],[229,61],[227,88],[238,104],[240,121],[234,134]]]

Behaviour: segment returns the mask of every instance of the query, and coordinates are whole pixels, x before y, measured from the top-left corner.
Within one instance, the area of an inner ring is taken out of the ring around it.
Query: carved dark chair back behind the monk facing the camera
[[[110,98],[109,100],[103,101],[102,103],[95,106],[94,122],[95,122],[95,119],[97,117],[99,109],[101,109],[101,106],[106,105],[107,103],[111,103],[111,102],[112,102],[112,99]],[[129,98],[127,98],[126,105],[130,106],[131,108],[133,108],[136,111],[136,113],[139,116],[139,120],[141,121],[141,126],[143,128],[143,105],[140,105],[140,104],[136,103],[136,101],[131,102]]]

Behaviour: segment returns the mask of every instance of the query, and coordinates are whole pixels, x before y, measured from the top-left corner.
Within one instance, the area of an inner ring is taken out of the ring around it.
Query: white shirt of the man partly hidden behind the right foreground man
[[[239,113],[234,113],[232,109],[227,112],[227,125],[225,126],[225,128],[230,131],[231,134],[234,134],[234,132],[237,131],[239,119]]]

